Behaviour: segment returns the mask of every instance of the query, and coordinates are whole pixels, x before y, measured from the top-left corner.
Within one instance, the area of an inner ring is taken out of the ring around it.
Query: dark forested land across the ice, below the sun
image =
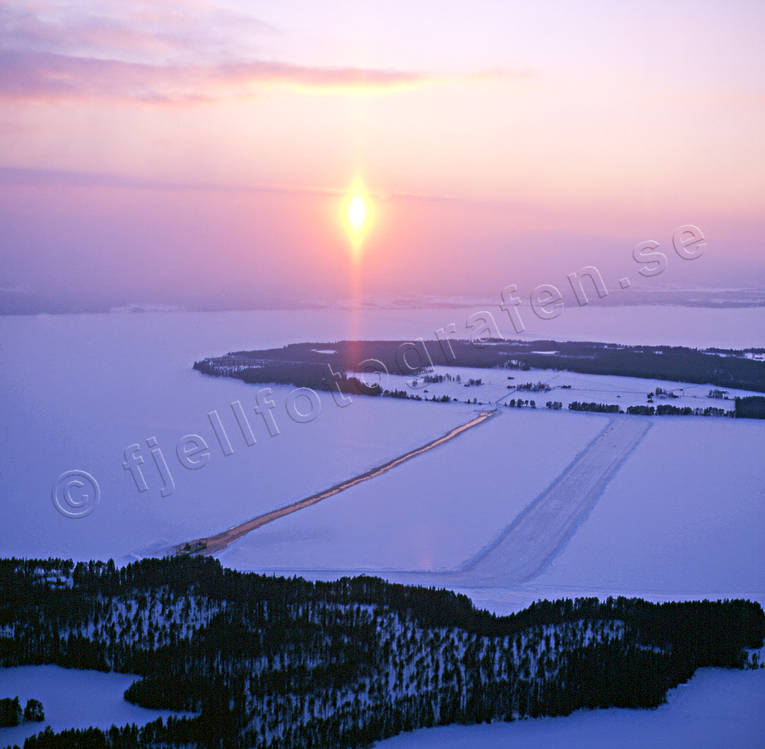
[[[465,340],[295,343],[236,351],[194,362],[204,374],[245,382],[283,383],[344,393],[393,395],[353,373],[419,375],[433,366],[556,369],[676,382],[709,383],[765,393],[765,349],[693,349],[561,341]],[[419,396],[417,396],[419,398]],[[765,400],[741,415],[765,415]]]

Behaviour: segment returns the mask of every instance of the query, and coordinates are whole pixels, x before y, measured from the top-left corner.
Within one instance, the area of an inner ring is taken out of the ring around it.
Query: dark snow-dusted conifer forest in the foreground
[[[758,666],[745,600],[538,602],[510,616],[372,577],[224,569],[210,558],[0,560],[0,665],[140,675],[128,700],[194,717],[38,734],[43,747],[362,747],[449,723],[654,707],[702,666]]]

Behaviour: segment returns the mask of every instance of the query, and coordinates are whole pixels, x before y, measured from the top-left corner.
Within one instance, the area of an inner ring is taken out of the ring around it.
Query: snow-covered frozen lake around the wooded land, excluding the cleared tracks
[[[118,562],[161,553],[171,544],[222,531],[326,489],[434,439],[471,419],[475,407],[362,397],[340,407],[324,393],[316,419],[298,423],[284,408],[291,388],[274,387],[278,434],[272,436],[253,411],[260,388],[204,377],[191,364],[208,355],[294,341],[428,337],[469,312],[0,318],[5,395],[0,552]],[[591,307],[567,309],[553,321],[537,320],[527,334],[556,335],[742,346],[765,340],[765,315],[758,308]],[[529,380],[536,374],[523,373]],[[552,374],[555,382],[562,381],[561,373]],[[487,373],[487,379],[493,377]],[[503,378],[491,385],[490,395],[506,389]],[[644,390],[656,385],[630,378],[563,379],[577,397],[583,398],[581,388],[589,387],[594,388],[592,398],[613,399],[623,391],[625,401],[636,388],[632,395],[643,400]],[[569,391],[553,392],[559,397]],[[546,398],[534,395],[540,402]],[[247,446],[237,426],[231,409],[237,402],[249,414],[254,445]],[[210,414],[216,413],[231,436],[228,455],[212,428]],[[264,526],[229,547],[222,561],[240,569],[295,570],[307,576],[363,570],[391,579],[398,572],[453,569],[497,538],[606,419],[544,409],[503,410],[379,479]],[[189,433],[202,436],[209,448],[209,461],[200,470],[182,467],[175,454],[179,438]],[[146,491],[139,491],[123,469],[130,445],[137,445],[143,460]],[[161,451],[172,487],[150,445]],[[460,587],[497,611],[542,596],[588,593],[659,600],[736,594],[763,600],[763,448],[765,423],[658,418],[562,553],[538,577],[505,589],[479,589],[469,581]],[[56,477],[74,468],[92,473],[101,488],[100,504],[80,520],[63,517],[51,502]]]

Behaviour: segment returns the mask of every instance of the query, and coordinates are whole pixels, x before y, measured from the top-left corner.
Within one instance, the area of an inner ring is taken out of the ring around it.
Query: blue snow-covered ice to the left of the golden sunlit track
[[[150,318],[154,319],[150,319]],[[229,325],[229,322],[231,325]],[[287,386],[273,386],[279,434],[253,407],[260,387],[193,371],[195,358],[221,348],[272,345],[273,332],[236,315],[83,315],[3,318],[0,431],[5,555],[117,560],[161,553],[168,545],[223,530],[325,489],[418,447],[469,420],[468,406],[356,397],[338,406],[320,394],[321,412],[297,423],[285,409]],[[232,329],[233,327],[233,329]],[[230,403],[248,414],[248,447]],[[224,456],[208,413],[217,411],[233,454]],[[201,435],[209,463],[183,468],[176,443]],[[175,489],[161,491],[147,441],[155,438]],[[140,447],[147,491],[123,469],[123,451]],[[101,501],[72,520],[51,502],[57,476],[90,472]]]

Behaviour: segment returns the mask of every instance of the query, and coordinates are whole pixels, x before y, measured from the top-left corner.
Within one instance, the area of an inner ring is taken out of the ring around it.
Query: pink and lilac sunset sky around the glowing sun
[[[689,223],[661,283],[765,286],[764,71],[759,2],[0,3],[0,295],[486,296]]]

